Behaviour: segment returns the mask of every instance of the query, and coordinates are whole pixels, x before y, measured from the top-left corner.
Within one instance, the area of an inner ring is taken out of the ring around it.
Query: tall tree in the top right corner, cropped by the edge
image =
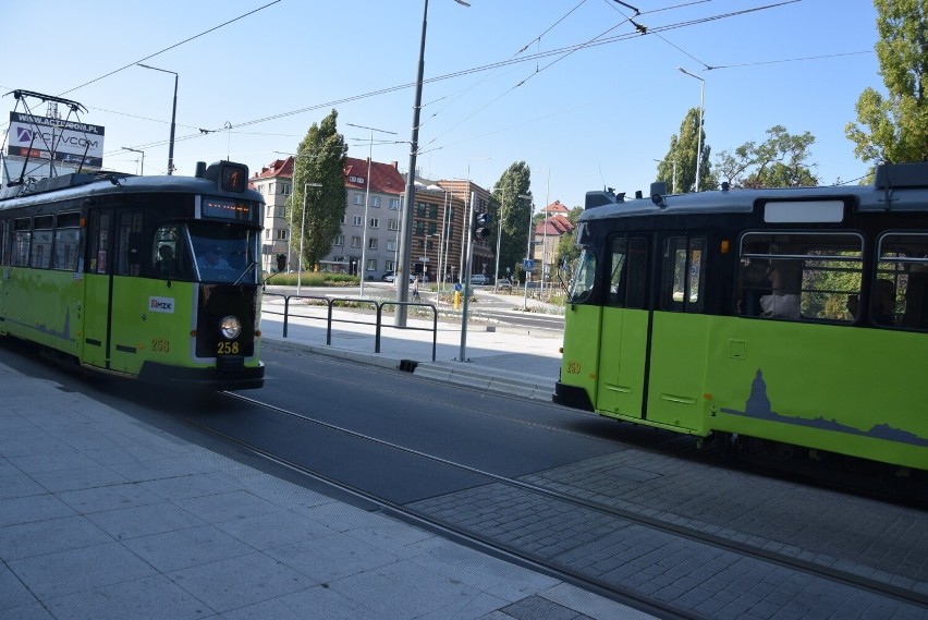
[[[924,0],[874,0],[876,45],[883,98],[867,88],[857,99],[857,122],[844,133],[856,144],[854,155],[868,162],[928,160],[928,9]]]

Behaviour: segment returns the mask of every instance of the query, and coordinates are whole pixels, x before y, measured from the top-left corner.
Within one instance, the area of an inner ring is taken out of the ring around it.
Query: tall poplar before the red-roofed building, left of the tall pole
[[[309,269],[318,266],[319,260],[331,251],[341,232],[347,207],[344,180],[347,147],[344,136],[337,130],[338,118],[339,113],[332,110],[320,124],[313,123],[300,143],[293,162],[290,206],[293,224],[300,227],[295,230],[293,242],[302,241],[302,264]]]

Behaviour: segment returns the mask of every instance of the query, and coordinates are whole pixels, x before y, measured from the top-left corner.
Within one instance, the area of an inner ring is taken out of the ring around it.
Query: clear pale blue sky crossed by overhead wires
[[[815,136],[822,184],[869,169],[844,133],[864,89],[884,92],[869,0],[468,2],[428,2],[416,161],[426,178],[492,189],[525,161],[536,209],[583,205],[603,186],[647,193],[700,90],[712,161],[783,125]],[[259,171],[333,109],[350,156],[405,172],[424,5],[0,0],[0,20],[22,20],[25,33],[8,39],[0,130],[5,112],[24,111],[10,92],[64,97],[105,127],[105,168],[141,172],[133,148],[145,174],[163,174],[174,76],[142,62],[178,74],[175,174],[220,159]]]

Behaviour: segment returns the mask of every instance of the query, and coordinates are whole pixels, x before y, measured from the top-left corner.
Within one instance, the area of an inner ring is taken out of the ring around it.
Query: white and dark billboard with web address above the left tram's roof
[[[61,119],[10,112],[7,155],[103,165],[103,127]]]

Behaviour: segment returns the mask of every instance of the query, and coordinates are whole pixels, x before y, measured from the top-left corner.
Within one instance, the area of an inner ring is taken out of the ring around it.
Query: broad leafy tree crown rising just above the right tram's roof
[[[760,144],[746,142],[733,153],[722,150],[716,158],[719,177],[732,187],[798,187],[818,185],[808,163],[815,136],[809,132],[792,135],[783,125],[767,130]]]

